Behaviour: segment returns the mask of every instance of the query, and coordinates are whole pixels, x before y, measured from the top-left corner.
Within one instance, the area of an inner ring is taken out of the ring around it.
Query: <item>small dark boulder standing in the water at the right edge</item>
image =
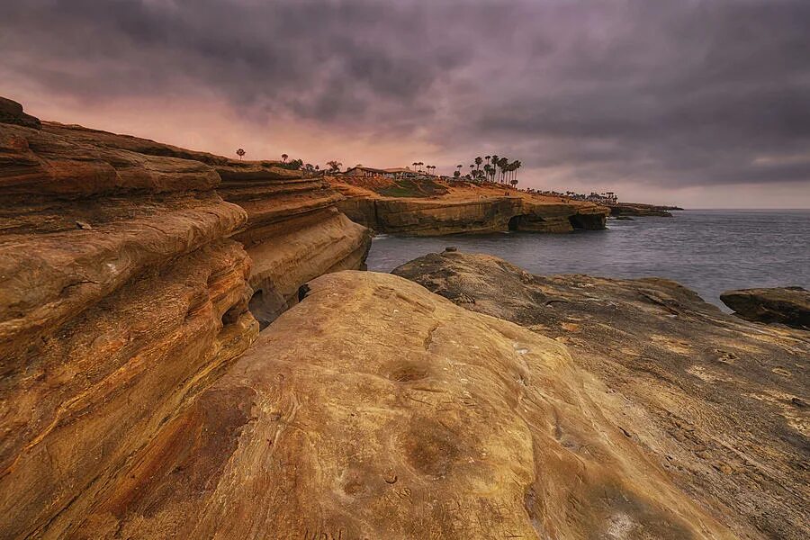
[[[744,320],[810,329],[810,292],[802,287],[726,291],[720,300]]]

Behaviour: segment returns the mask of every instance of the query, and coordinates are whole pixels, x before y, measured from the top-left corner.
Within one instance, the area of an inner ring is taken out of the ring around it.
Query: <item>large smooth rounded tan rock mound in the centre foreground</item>
[[[324,275],[63,530],[734,537],[626,437],[621,407],[552,339],[393,275]]]

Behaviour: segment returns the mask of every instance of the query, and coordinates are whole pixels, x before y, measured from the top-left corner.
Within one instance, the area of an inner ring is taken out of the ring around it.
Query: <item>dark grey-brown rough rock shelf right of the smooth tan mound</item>
[[[726,315],[662,279],[529,275],[457,252],[394,272],[565,344],[616,399],[604,414],[626,440],[734,537],[808,536],[810,333]]]

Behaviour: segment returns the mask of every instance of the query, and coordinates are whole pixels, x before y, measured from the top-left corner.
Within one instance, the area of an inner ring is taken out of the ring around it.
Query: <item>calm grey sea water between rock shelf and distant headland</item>
[[[608,230],[560,235],[381,235],[368,268],[391,272],[446,246],[501,257],[532,274],[668,277],[724,309],[719,295],[728,289],[810,288],[810,211],[679,211],[674,218],[608,220]]]

